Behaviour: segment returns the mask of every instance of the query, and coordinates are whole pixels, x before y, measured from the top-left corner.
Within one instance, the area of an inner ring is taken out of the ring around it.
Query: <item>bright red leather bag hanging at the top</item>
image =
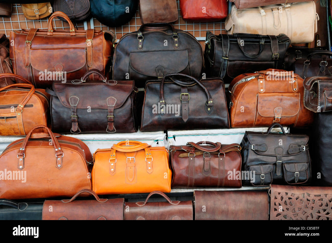
[[[226,0],[180,0],[182,18],[190,21],[217,22],[227,17]]]

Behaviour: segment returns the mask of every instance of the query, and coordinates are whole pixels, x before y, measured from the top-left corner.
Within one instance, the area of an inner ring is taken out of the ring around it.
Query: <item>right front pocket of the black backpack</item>
[[[284,180],[287,184],[300,184],[308,181],[307,163],[284,163]]]

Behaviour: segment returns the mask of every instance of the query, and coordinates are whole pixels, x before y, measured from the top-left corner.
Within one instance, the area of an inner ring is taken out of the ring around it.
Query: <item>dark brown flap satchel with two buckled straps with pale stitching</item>
[[[91,74],[100,78],[86,81]],[[100,80],[102,79],[102,80]],[[52,131],[57,133],[133,133],[137,131],[134,81],[108,80],[97,69],[82,79],[54,81]]]

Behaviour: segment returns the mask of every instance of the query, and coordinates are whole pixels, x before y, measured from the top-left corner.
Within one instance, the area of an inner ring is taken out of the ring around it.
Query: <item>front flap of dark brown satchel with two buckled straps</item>
[[[62,84],[61,81],[54,81],[53,91],[56,93],[61,104],[70,107],[69,97],[76,96],[79,100],[78,109],[87,109],[88,106],[94,109],[107,109],[110,97],[115,98],[115,107],[119,108],[126,101],[134,89],[134,81],[108,81],[114,85],[105,84],[103,81],[86,81],[74,85],[71,81]],[[113,99],[114,100],[114,99]]]

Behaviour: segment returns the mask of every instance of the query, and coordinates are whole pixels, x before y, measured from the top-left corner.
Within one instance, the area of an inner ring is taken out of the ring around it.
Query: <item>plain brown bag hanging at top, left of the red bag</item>
[[[142,24],[172,23],[179,19],[176,0],[139,0]]]

